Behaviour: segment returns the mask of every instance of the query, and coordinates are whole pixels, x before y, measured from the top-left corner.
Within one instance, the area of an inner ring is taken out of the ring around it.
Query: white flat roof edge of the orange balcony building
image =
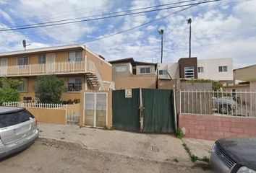
[[[0,56],[13,56],[13,55],[19,55],[19,54],[25,54],[25,53],[37,53],[37,52],[43,52],[43,51],[62,50],[62,49],[69,49],[69,48],[85,49],[85,45],[61,45],[61,46],[54,46],[54,47],[47,47],[47,48],[17,50],[17,51],[11,51],[11,52],[6,52],[6,53],[0,53]]]

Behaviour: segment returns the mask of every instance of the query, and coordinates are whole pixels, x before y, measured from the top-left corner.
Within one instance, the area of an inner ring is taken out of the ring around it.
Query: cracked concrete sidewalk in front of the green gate
[[[184,150],[182,141],[174,135],[130,133],[121,130],[101,130],[79,128],[77,125],[43,123],[38,123],[38,128],[40,138],[80,143],[83,147],[94,151],[121,154],[151,161],[184,164],[189,167],[194,165]],[[188,143],[187,145],[191,147]],[[174,159],[179,162],[176,163]]]

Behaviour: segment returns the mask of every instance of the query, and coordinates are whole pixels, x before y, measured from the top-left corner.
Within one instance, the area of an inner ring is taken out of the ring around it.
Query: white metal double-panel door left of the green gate
[[[84,99],[84,124],[93,127],[108,125],[108,93],[85,92]]]

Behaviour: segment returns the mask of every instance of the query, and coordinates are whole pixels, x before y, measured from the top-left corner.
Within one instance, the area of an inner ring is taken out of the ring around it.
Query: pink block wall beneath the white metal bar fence
[[[256,117],[180,114],[179,127],[186,128],[187,138],[215,141],[234,136],[256,136]]]

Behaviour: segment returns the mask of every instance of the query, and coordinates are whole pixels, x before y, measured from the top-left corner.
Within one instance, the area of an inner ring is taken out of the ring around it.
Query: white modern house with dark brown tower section
[[[180,58],[177,63],[159,63],[158,79],[211,79],[226,83],[233,80],[232,58]]]

